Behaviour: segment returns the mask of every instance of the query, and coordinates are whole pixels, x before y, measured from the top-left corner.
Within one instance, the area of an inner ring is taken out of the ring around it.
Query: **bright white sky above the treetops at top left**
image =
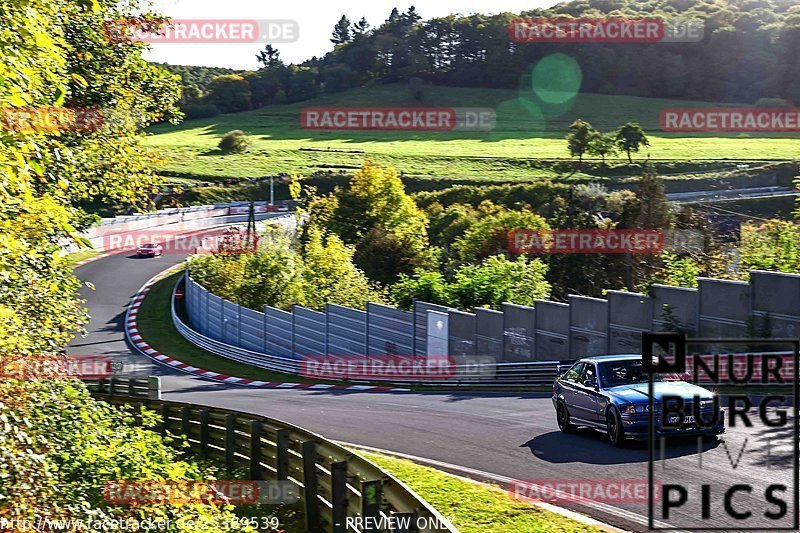
[[[293,43],[276,44],[286,62],[299,62],[311,56],[321,56],[333,49],[329,41],[337,20],[344,14],[355,22],[366,17],[372,26],[381,24],[393,7],[404,11],[414,5],[423,18],[451,13],[519,13],[527,9],[554,5],[554,0],[154,0],[154,9],[172,18],[184,19],[250,19],[295,20],[299,24],[299,39]],[[263,43],[254,44],[187,44],[162,43],[151,45],[147,59],[180,65],[205,65],[237,69],[258,66],[256,53]]]

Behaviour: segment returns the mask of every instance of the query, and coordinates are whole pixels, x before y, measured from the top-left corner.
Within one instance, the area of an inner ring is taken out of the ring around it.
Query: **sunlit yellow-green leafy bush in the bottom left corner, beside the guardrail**
[[[134,414],[94,400],[78,381],[0,382],[0,516],[31,521],[37,516],[174,522],[233,518],[231,506],[106,501],[103,489],[109,482],[220,478],[217,469],[184,460],[178,449],[147,429],[158,415],[139,413],[145,426],[139,427]],[[203,530],[183,523],[174,530]]]

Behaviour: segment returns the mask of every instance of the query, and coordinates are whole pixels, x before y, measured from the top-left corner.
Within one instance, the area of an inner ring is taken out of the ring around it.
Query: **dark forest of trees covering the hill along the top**
[[[705,29],[703,40],[691,43],[547,44],[509,39],[509,23],[516,18],[556,16],[699,18]],[[800,102],[800,85],[793,82],[800,75],[800,5],[791,0],[579,0],[524,13],[430,20],[423,20],[412,6],[404,12],[392,10],[375,27],[363,17],[351,22],[343,15],[330,40],[333,51],[299,65],[286,65],[279,51],[267,45],[258,56],[263,67],[241,73],[241,83],[249,88],[248,107],[304,100],[370,82],[514,88],[532,65],[554,52],[578,62],[583,92]],[[189,78],[184,76],[184,83],[192,86],[195,82]]]

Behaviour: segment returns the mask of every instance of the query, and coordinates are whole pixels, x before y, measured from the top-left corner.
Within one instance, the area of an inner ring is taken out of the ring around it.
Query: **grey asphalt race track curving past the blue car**
[[[138,365],[142,372],[161,375],[163,397],[167,400],[283,419],[334,440],[444,462],[454,471],[477,479],[502,483],[510,478],[540,484],[581,480],[647,482],[646,444],[617,449],[597,432],[560,433],[547,394],[258,390],[204,381],[154,364],[126,343],[124,313],[132,296],[149,278],[183,259],[178,255],[137,259],[120,254],[78,268],[78,277],[96,289],[83,289],[92,320],[87,326],[88,336],[76,338],[69,352],[107,355]],[[180,359],[180,354],[170,355]],[[666,459],[654,466],[654,475],[665,484],[688,486],[689,503],[673,510],[669,519],[660,520],[661,527],[692,531],[702,525],[729,531],[745,527],[767,529],[763,513],[777,509],[764,500],[763,488],[769,483],[788,487],[776,496],[787,502],[789,514],[772,529],[790,527],[789,517],[795,509],[792,464],[796,464],[791,448],[792,428],[791,416],[786,427],[765,428],[757,422],[750,429],[729,428],[724,441],[705,442],[702,453],[698,453],[696,440],[668,442]],[[701,523],[699,503],[699,486],[703,483],[711,485],[711,519],[705,524]],[[739,492],[732,498],[736,510],[752,511],[749,521],[736,520],[725,513],[723,492],[734,484],[753,486],[752,495]],[[558,505],[626,530],[647,530],[646,503]],[[660,516],[660,506],[656,515]]]

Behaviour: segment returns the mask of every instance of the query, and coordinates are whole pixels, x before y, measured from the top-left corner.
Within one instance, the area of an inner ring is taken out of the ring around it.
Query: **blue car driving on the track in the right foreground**
[[[681,381],[677,375],[659,374],[653,383],[654,421],[656,436],[719,435],[725,432],[724,411],[714,395],[692,383]],[[683,420],[670,416],[661,423],[662,398],[675,403],[683,399]],[[696,423],[693,402],[700,401],[697,411],[703,424]],[[642,370],[641,355],[604,355],[581,359],[553,385],[553,406],[558,427],[565,433],[577,426],[605,431],[615,446],[626,439],[647,439],[650,422],[648,375]],[[714,420],[714,411],[719,410]],[[712,422],[713,421],[713,422]],[[712,427],[713,423],[713,427]]]

